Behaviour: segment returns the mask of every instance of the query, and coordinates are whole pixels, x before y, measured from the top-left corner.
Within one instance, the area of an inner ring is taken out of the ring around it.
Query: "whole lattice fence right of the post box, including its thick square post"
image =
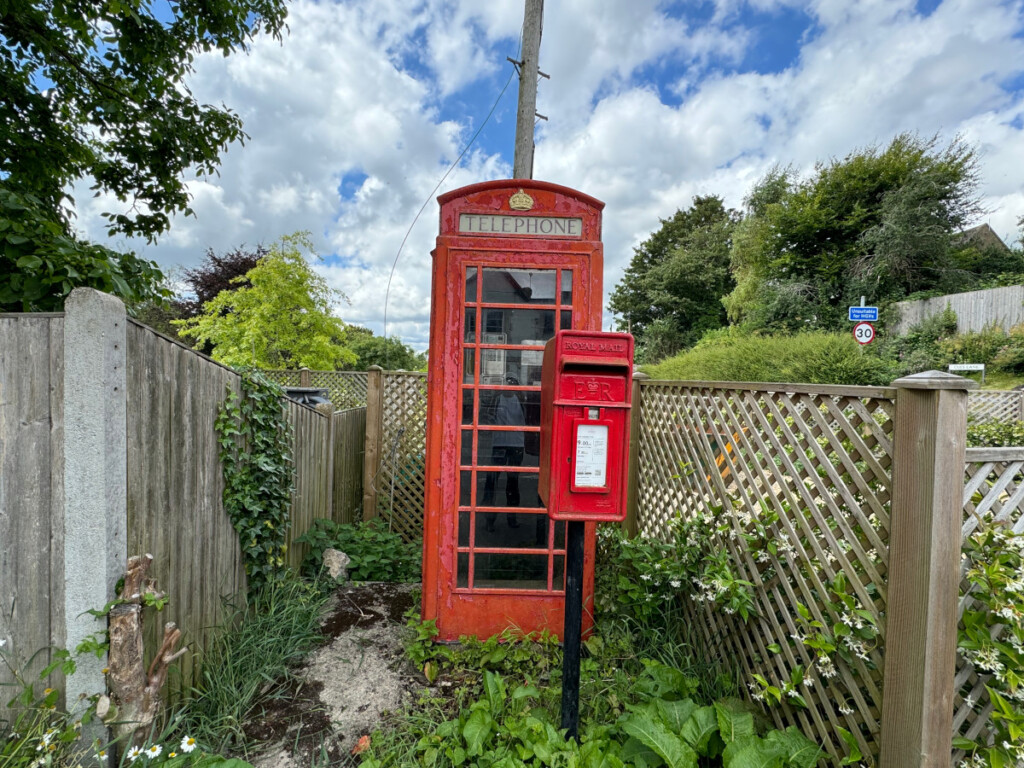
[[[883,766],[919,765],[914,751],[936,730],[940,740],[984,734],[987,677],[954,656],[956,554],[981,519],[1024,530],[1024,447],[966,450],[964,393],[928,388],[953,377],[896,384],[635,381],[627,527],[668,538],[682,518],[714,531],[732,575],[751,585],[754,615],[722,610],[715,585],[691,585],[707,652],[737,664],[754,697],[754,675],[792,690],[772,717],[836,764],[848,754],[839,728]],[[830,634],[851,621],[873,637],[827,653],[805,642],[815,622]]]

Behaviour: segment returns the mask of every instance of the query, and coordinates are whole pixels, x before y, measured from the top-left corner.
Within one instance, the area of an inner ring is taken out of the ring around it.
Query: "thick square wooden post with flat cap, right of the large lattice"
[[[893,382],[889,593],[880,768],[948,768],[956,672],[967,390],[928,371]]]

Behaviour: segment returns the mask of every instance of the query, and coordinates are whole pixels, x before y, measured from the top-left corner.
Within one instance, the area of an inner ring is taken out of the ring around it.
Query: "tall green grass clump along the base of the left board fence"
[[[236,607],[200,659],[202,676],[179,717],[185,732],[215,752],[245,749],[247,718],[282,691],[294,668],[322,640],[329,594],[289,578]]]

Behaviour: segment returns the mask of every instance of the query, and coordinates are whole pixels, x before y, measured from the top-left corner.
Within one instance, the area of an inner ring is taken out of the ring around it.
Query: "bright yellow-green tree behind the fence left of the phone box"
[[[331,311],[344,295],[313,271],[306,253],[315,257],[308,232],[282,238],[231,281],[248,286],[221,291],[201,315],[176,321],[179,334],[212,344],[213,358],[228,366],[332,371],[353,364],[345,324]]]

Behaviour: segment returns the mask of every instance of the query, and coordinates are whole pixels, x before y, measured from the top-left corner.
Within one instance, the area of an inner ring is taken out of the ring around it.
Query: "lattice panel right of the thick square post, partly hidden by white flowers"
[[[968,449],[964,475],[965,540],[993,524],[1024,532],[1024,447]],[[967,588],[965,582],[962,592]],[[961,599],[962,616],[973,602],[970,595]],[[970,662],[957,656],[959,694],[953,712],[954,733],[984,740],[992,715],[992,705],[985,690],[990,680],[990,675],[979,674]],[[962,755],[954,757],[959,759]]]

